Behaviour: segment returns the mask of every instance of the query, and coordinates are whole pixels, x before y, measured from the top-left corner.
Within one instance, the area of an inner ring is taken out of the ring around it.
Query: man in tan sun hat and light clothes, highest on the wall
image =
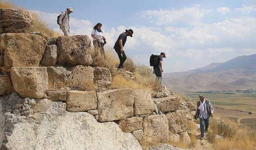
[[[62,12],[59,19],[60,29],[64,36],[70,36],[69,14],[73,12],[73,8],[68,7],[65,12]]]

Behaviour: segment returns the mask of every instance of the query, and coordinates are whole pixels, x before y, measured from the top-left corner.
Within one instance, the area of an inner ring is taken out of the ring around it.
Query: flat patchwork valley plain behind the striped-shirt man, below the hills
[[[246,94],[242,91],[187,92],[186,96],[193,102],[198,101],[198,95],[204,94],[214,106],[214,116],[229,119],[240,126],[256,128],[256,94]],[[228,94],[229,93],[229,94]]]

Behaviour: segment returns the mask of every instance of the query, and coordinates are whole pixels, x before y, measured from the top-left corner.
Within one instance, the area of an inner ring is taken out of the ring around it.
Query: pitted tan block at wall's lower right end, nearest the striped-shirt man
[[[179,134],[185,132],[188,129],[187,126],[187,117],[185,111],[175,111],[169,114],[166,114],[169,130],[172,134]]]

